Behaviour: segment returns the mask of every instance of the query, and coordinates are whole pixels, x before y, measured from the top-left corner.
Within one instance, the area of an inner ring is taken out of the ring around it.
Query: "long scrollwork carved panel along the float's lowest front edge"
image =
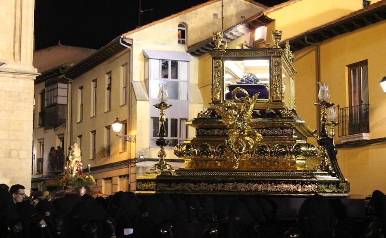
[[[317,192],[316,184],[286,184],[286,183],[159,183],[161,191],[188,192]]]

